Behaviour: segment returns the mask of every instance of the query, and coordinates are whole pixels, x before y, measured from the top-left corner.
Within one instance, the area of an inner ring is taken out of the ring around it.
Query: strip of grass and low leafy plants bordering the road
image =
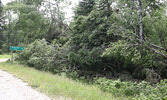
[[[95,78],[93,83],[86,84],[84,79],[67,78],[65,73],[55,75],[16,63],[0,63],[0,69],[15,75],[34,89],[49,95],[53,99],[60,97],[67,100],[167,99],[167,80],[162,80],[153,86],[146,81],[137,83]]]

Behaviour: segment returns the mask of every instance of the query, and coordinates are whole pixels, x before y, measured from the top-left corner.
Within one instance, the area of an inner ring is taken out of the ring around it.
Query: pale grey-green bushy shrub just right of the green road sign
[[[45,40],[36,40],[19,53],[16,59],[36,69],[57,73],[66,63],[62,52],[61,48],[48,45]]]

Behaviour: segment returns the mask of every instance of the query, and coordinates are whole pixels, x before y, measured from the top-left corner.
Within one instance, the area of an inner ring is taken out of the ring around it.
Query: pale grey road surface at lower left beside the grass
[[[7,59],[0,59],[0,62]],[[50,100],[44,94],[27,86],[22,80],[0,70],[0,100]]]

